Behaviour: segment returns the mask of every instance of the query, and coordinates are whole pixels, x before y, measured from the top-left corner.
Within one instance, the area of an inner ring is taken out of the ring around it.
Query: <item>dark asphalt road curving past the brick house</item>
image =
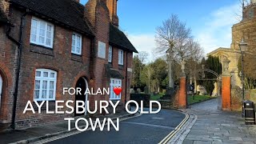
[[[85,143],[158,143],[185,118],[185,114],[173,110],[161,110],[158,114],[142,114],[120,122],[120,130],[96,130],[74,134],[50,144]]]

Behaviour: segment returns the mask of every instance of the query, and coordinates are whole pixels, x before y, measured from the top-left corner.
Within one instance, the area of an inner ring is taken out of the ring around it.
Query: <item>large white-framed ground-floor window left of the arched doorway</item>
[[[37,69],[34,81],[34,101],[52,101],[56,97],[57,72]]]

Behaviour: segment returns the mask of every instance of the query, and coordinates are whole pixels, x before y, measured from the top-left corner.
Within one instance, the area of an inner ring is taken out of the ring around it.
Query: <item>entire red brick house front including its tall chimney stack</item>
[[[94,93],[98,88],[109,87],[110,79],[106,77],[105,65],[108,64],[109,48],[109,29],[110,16],[104,1],[90,0],[86,6],[90,9],[86,12],[86,18],[90,19],[94,29],[95,38],[82,38],[82,56],[71,54],[72,33],[62,26],[54,25],[54,46],[48,49],[42,46],[30,44],[30,26],[32,15],[26,15],[23,46],[22,62],[18,86],[18,105],[16,113],[16,123],[18,127],[34,126],[46,122],[62,121],[66,117],[74,117],[74,114],[22,114],[26,102],[34,101],[34,78],[37,69],[50,69],[57,71],[57,90],[56,100],[75,100],[74,96],[68,94],[62,95],[63,87],[75,87],[79,78],[86,78],[89,87],[94,88]],[[25,11],[17,10],[10,7],[10,22],[14,25],[10,35],[18,40],[21,17]],[[47,20],[46,20],[47,21]],[[6,38],[6,27],[0,26],[0,74],[3,78],[3,92],[0,107],[0,124],[1,122],[11,122],[15,70],[17,67],[17,46]],[[106,58],[98,58],[98,42],[106,43]],[[118,66],[118,48],[114,47],[113,66],[119,70],[123,77],[126,77],[126,51],[124,51],[124,66]],[[132,67],[132,53],[128,53],[128,68]],[[130,78],[128,72],[127,80],[122,80],[122,103],[130,99]],[[125,84],[127,82],[127,87]],[[125,90],[127,93],[125,93]],[[109,95],[89,95],[88,100],[91,110],[94,108],[94,101],[109,100]],[[35,105],[34,105],[35,106]],[[54,104],[50,104],[50,109],[54,109]],[[64,107],[66,110],[66,107]]]

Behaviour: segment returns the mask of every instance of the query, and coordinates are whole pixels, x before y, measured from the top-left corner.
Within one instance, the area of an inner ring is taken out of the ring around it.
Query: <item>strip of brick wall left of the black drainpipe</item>
[[[2,77],[2,97],[0,103],[0,125],[9,124],[12,114],[14,81],[15,81],[15,54],[17,46],[6,38],[6,26],[0,26],[0,74]]]

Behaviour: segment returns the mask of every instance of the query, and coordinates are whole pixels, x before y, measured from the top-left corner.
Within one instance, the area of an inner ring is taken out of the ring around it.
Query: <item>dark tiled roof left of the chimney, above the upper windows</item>
[[[10,0],[10,2],[28,8],[33,13],[50,18],[54,22],[93,35],[88,20],[84,18],[85,6],[74,0]]]

